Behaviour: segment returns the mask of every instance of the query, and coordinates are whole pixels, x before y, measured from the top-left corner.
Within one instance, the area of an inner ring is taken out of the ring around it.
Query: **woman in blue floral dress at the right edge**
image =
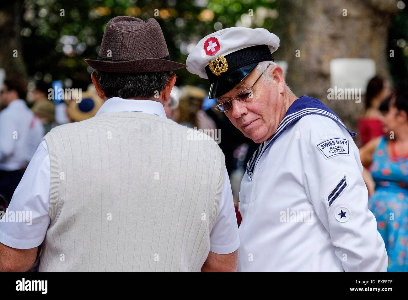
[[[408,97],[399,92],[390,101],[384,124],[390,137],[371,140],[360,149],[370,166],[375,192],[368,200],[387,254],[388,272],[408,271]]]

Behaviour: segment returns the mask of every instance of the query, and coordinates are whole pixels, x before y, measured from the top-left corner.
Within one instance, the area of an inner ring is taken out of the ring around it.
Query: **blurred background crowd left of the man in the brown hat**
[[[51,84],[32,83],[7,78],[0,91],[0,194],[6,207],[42,138],[53,127],[95,116],[103,103],[93,84],[81,99],[63,100]]]

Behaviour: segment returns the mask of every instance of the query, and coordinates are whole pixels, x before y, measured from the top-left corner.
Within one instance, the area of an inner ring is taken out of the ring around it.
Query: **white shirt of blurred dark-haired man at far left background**
[[[44,137],[44,127],[27,107],[16,99],[0,112],[0,170],[27,167]]]

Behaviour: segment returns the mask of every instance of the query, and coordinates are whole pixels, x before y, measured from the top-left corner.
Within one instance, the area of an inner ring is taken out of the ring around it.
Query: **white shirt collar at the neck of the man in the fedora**
[[[163,104],[160,102],[153,100],[122,99],[119,97],[106,100],[95,114],[95,117],[102,113],[115,113],[119,111],[138,111],[167,118]]]

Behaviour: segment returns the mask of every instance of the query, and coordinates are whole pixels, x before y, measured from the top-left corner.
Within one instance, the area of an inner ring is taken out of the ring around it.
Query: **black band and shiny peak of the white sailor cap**
[[[259,62],[266,60],[274,61],[271,51],[267,45],[256,45],[247,47],[224,56],[228,64],[227,71],[216,76],[210,70],[209,65],[205,67],[211,87],[208,98],[213,99],[228,93],[239,82],[244,80]]]

